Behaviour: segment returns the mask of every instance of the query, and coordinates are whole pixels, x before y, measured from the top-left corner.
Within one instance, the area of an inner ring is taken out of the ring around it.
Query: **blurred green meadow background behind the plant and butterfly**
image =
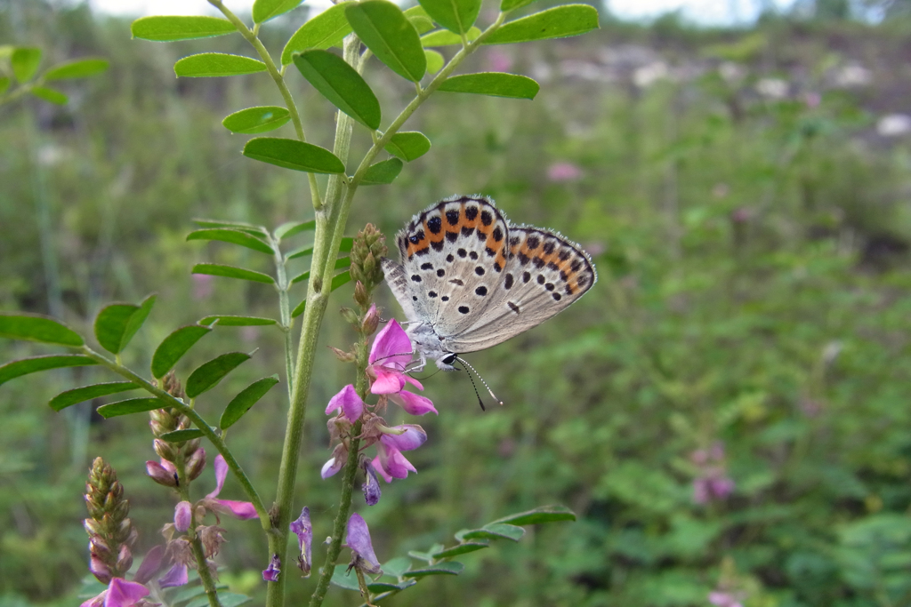
[[[441,197],[483,193],[513,221],[580,242],[599,282],[567,313],[468,357],[506,406],[482,412],[462,373],[426,379],[440,415],[420,420],[430,439],[409,454],[419,473],[384,486],[369,511],[355,502],[381,561],[541,504],[579,520],[468,555],[462,576],[392,604],[670,607],[710,604],[710,592],[757,607],[911,604],[911,21],[902,3],[879,6],[876,25],[851,20],[851,8],[804,2],[739,29],[604,12],[599,32],[490,47],[466,67],[537,78],[534,102],[439,94],[418,112],[409,126],[431,153],[359,193],[351,234],[369,221],[391,237]],[[306,11],[264,28],[273,52]],[[244,139],[220,126],[280,101],[266,76],[173,75],[192,52],[249,54],[241,38],[166,46],[131,41],[128,25],[86,5],[0,0],[3,43],[41,46],[45,65],[111,60],[67,87],[68,106],[0,108],[0,309],[90,333],[103,303],[158,292],[125,356],[148,368],[179,325],[277,314],[270,288],[189,275],[205,260],[270,271],[237,248],[185,242],[191,218],[274,227],[312,210],[300,174],[241,157]],[[384,107],[403,106],[404,81],[384,69],[368,80]],[[292,81],[308,136],[329,145],[330,106]],[[349,305],[350,290],[330,308]],[[331,311],[322,343],[352,340]],[[254,348],[200,402],[204,413],[281,369],[281,336],[217,329],[190,352],[184,373]],[[0,342],[4,361],[43,351]],[[319,477],[321,403],[351,380],[333,357],[319,364],[297,500],[316,538],[337,496]],[[0,388],[3,607],[77,603],[92,457],[126,485],[138,553],[172,516],[172,497],[144,475],[155,456],[140,417],[46,406],[104,378],[76,369]],[[267,502],[282,394],[232,430]],[[229,481],[222,497],[241,491]],[[259,526],[223,524],[222,581],[261,596]],[[312,581],[292,588],[303,600]],[[336,589],[327,604],[357,602]]]

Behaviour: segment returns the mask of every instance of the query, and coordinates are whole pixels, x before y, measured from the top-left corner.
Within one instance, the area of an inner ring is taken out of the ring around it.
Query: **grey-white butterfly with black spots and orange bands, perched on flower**
[[[423,369],[451,370],[457,355],[537,327],[591,288],[589,254],[557,232],[513,226],[487,197],[427,207],[395,236],[401,263],[384,258],[386,283],[408,320]]]

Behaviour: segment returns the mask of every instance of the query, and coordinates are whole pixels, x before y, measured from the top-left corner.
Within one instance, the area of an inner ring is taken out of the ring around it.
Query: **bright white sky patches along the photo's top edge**
[[[118,15],[217,15],[206,0],[90,0],[100,11]],[[249,13],[252,0],[225,0],[238,14]],[[327,7],[330,0],[307,0],[308,5]],[[724,24],[752,21],[763,0],[607,0],[615,15],[624,19],[648,19],[672,10],[682,9],[683,15],[702,24]],[[793,4],[793,0],[773,0],[777,6]]]

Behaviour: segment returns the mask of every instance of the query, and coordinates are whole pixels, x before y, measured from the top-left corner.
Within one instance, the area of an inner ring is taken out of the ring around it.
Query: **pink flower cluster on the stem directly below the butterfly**
[[[373,312],[373,310],[371,310]],[[369,312],[368,312],[369,314]],[[387,400],[402,407],[412,415],[436,413],[434,403],[405,388],[409,384],[417,389],[424,389],[421,383],[404,373],[406,365],[412,359],[411,339],[394,319],[384,327],[374,339],[368,358],[367,377],[370,379],[370,392],[379,396],[379,401],[372,406],[366,405],[353,385],[348,384],[333,396],[326,407],[326,415],[333,415],[329,420],[329,433],[333,442],[333,456],[322,466],[322,478],[326,479],[342,470],[349,457],[349,445],[353,425],[362,421],[362,449],[376,446],[376,456],[367,467],[367,483],[364,493],[368,503],[379,499],[378,487],[371,486],[372,467],[386,482],[393,479],[404,479],[408,472],[416,472],[415,466],[404,457],[403,451],[415,450],[427,440],[423,428],[416,424],[387,426],[385,420],[377,413],[386,407]],[[374,497],[372,498],[371,495]]]

